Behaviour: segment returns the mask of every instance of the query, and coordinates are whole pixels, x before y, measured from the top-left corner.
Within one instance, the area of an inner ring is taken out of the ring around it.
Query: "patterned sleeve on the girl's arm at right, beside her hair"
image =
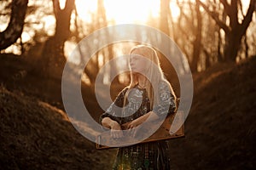
[[[176,110],[175,98],[166,83],[160,83],[159,103],[154,105],[153,111],[158,116],[168,116]]]

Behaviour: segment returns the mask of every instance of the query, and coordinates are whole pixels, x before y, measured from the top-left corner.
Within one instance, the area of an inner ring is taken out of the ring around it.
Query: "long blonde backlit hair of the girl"
[[[140,55],[143,55],[143,57],[152,61],[148,65],[148,73],[147,73],[148,78],[147,78],[147,83],[146,83],[146,91],[148,93],[148,98],[150,100],[150,109],[152,110],[154,104],[157,105],[160,102],[159,98],[157,97],[157,96],[159,96],[159,90],[154,89],[153,87],[158,87],[159,84],[162,82],[166,83],[169,86],[170,91],[171,91],[172,95],[174,96],[175,102],[176,102],[176,95],[173,92],[170,82],[168,82],[166,80],[166,77],[164,76],[164,73],[161,70],[160,60],[159,60],[158,54],[156,53],[154,48],[151,48],[151,47],[145,46],[145,45],[137,45],[134,48],[131,48],[130,60],[131,60],[131,54],[137,54],[137,53],[139,53]],[[129,65],[130,65],[130,61],[129,61]],[[157,66],[156,70],[154,69],[155,65]],[[137,74],[135,74],[133,71],[131,71],[130,75],[131,75],[131,82],[130,82],[130,85],[128,86],[129,89],[134,88],[138,84]],[[126,105],[127,96],[129,94],[129,91],[130,90],[128,90],[127,93],[125,94],[124,105]]]

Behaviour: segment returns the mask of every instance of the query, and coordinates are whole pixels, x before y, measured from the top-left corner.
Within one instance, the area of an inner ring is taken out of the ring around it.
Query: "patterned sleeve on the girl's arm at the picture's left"
[[[121,117],[117,116],[118,113],[117,111],[120,111],[119,108],[123,107],[124,104],[124,99],[125,99],[125,93],[127,91],[128,88],[124,88],[116,97],[116,99],[114,99],[113,103],[108,107],[107,111],[104,112],[102,114],[102,116],[100,116],[100,120],[99,122],[102,123],[102,119],[104,117],[109,117],[111,118],[113,121],[116,122],[121,122]]]

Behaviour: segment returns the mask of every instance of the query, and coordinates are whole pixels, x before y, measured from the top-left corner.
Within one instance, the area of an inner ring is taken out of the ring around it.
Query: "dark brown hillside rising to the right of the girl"
[[[256,59],[194,75],[184,139],[171,141],[175,169],[255,169]]]

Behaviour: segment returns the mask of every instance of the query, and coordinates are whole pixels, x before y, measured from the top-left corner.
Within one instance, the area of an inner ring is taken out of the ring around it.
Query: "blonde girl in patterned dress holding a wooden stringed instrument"
[[[113,138],[123,137],[121,125],[124,123],[129,122],[128,128],[132,130],[148,118],[151,122],[177,110],[176,96],[160,69],[154,48],[139,45],[131,48],[129,56],[130,85],[100,118],[102,126],[111,129]],[[117,116],[117,107],[125,107],[122,116]],[[168,144],[164,140],[120,147],[113,169],[170,169],[168,155]]]

